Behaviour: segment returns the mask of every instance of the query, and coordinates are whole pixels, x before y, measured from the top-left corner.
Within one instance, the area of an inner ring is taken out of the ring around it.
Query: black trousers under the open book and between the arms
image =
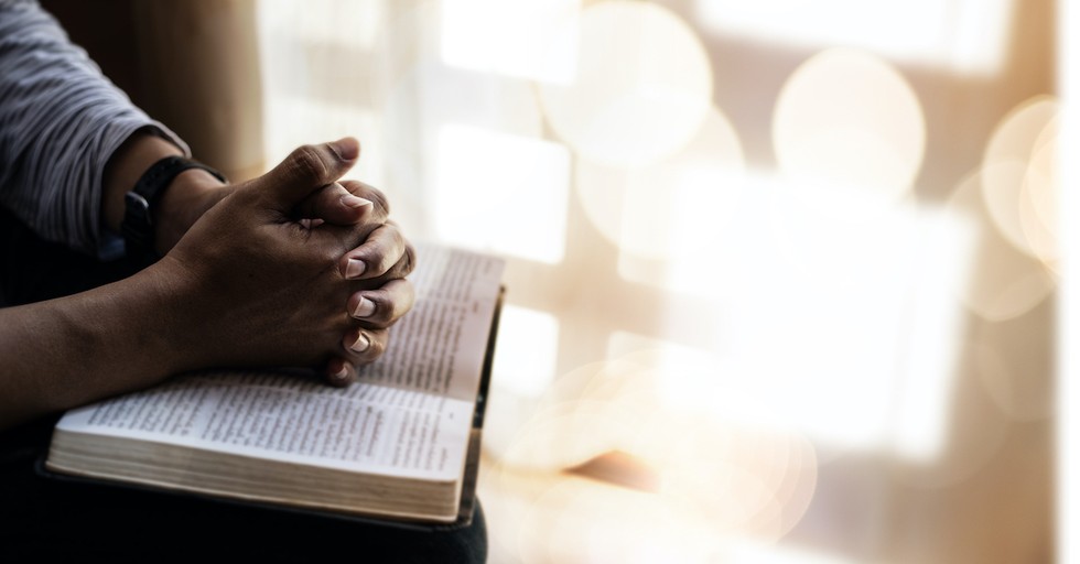
[[[0,212],[0,305],[80,292],[134,270],[45,242]],[[50,478],[36,465],[58,416],[0,432],[0,562],[89,556],[421,563],[487,556],[478,503],[468,527],[422,529]]]

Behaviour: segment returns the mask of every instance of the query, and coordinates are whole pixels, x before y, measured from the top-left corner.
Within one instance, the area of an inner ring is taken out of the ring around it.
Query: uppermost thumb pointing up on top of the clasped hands
[[[300,147],[259,178],[259,193],[268,207],[289,213],[316,189],[341,178],[359,154],[360,143],[350,137]]]

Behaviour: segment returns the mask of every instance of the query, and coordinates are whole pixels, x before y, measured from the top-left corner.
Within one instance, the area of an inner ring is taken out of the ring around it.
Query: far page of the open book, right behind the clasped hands
[[[501,283],[501,259],[418,246],[417,303],[390,328],[390,347],[360,381],[473,401]]]

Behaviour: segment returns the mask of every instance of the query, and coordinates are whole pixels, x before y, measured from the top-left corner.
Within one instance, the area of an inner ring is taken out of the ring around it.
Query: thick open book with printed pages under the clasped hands
[[[415,305],[359,382],[185,375],[67,412],[45,467],[360,516],[471,514],[503,261],[436,246],[418,256]]]

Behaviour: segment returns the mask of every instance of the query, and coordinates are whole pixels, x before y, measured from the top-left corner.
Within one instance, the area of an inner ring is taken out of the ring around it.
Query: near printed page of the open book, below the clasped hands
[[[473,403],[279,373],[204,373],[74,410],[58,429],[346,470],[453,479]]]

